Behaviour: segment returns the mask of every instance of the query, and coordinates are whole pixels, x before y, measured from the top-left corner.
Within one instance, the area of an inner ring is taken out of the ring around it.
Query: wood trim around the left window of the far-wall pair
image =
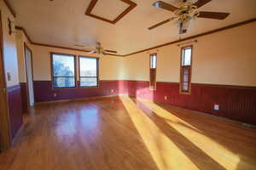
[[[57,52],[50,52],[50,73],[51,73],[51,83],[52,83],[52,89],[70,89],[70,88],[78,88],[77,84],[77,57],[75,54],[64,54],[64,53],[57,53]],[[64,87],[64,88],[55,88],[55,82],[54,82],[54,66],[53,66],[53,55],[59,54],[59,55],[67,55],[67,56],[73,56],[74,59],[74,87]]]

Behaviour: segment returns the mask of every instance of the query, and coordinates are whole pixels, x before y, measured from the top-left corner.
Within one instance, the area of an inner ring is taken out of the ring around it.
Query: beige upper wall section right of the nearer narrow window
[[[199,38],[192,82],[256,86],[255,30],[253,22]]]

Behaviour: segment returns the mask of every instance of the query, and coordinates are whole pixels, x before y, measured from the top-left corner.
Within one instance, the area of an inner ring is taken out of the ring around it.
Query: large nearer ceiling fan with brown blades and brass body
[[[192,0],[183,0],[183,3],[179,7],[175,7],[172,4],[165,3],[162,1],[157,1],[153,3],[154,7],[159,7],[173,12],[176,16],[171,17],[167,20],[164,20],[154,26],[150,26],[148,30],[152,30],[158,26],[164,25],[167,22],[177,19],[179,34],[187,32],[189,21],[196,18],[207,18],[207,19],[216,19],[224,20],[229,16],[230,13],[219,13],[219,12],[208,12],[208,11],[199,11],[198,8],[211,2],[212,0],[197,0],[195,3]]]

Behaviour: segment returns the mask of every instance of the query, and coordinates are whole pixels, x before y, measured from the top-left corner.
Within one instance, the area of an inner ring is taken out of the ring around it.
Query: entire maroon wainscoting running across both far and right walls
[[[147,81],[100,81],[99,88],[53,89],[50,81],[34,82],[36,102],[129,94],[256,125],[256,88],[192,83],[187,95],[179,94],[177,82],[157,82],[156,90],[148,87]],[[218,111],[213,110],[214,104],[219,105]]]

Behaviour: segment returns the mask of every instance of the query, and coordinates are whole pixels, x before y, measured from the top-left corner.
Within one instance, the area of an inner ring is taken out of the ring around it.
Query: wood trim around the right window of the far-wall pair
[[[81,86],[81,76],[80,76],[80,58],[91,58],[91,59],[96,59],[96,70],[97,70],[97,85],[96,86]],[[79,55],[79,88],[100,88],[100,78],[99,78],[99,60],[100,58],[98,57],[91,57],[91,56],[84,56],[84,55]]]

